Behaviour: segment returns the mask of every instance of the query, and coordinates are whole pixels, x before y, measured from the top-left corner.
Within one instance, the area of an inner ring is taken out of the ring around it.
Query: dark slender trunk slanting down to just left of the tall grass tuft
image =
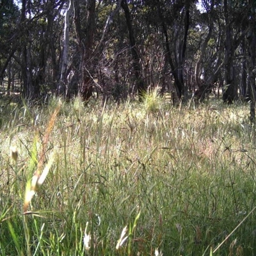
[[[134,75],[136,78],[136,86],[138,90],[139,99],[142,100],[143,94],[145,94],[145,92],[147,91],[147,86],[143,80],[143,76],[141,73],[140,56],[138,54],[137,47],[136,47],[136,40],[134,36],[134,31],[132,28],[131,15],[129,11],[129,6],[127,4],[127,0],[123,0],[121,5],[125,13],[127,29],[129,31],[129,39],[130,39],[131,52],[132,52],[132,67],[133,67]]]

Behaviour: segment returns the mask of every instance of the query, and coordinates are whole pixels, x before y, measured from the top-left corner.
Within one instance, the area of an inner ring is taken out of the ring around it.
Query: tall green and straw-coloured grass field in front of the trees
[[[249,106],[149,96],[0,102],[0,255],[256,254]]]

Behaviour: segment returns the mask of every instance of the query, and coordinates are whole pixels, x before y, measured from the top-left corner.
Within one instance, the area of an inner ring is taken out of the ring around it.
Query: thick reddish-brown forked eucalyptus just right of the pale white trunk
[[[100,15],[104,8],[108,10],[104,17]],[[69,70],[74,70],[78,91],[84,100],[92,97],[93,87],[100,91],[102,86],[97,83],[97,72],[101,56],[111,38],[111,27],[116,14],[121,8],[118,1],[74,1],[74,30],[76,38],[76,52],[70,60]],[[85,15],[81,15],[85,13]]]

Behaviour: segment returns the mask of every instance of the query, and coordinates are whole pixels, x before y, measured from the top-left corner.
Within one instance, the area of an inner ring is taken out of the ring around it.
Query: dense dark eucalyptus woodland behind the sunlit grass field
[[[26,100],[221,88],[228,104],[251,99],[253,118],[255,19],[253,0],[2,0],[0,77]]]

